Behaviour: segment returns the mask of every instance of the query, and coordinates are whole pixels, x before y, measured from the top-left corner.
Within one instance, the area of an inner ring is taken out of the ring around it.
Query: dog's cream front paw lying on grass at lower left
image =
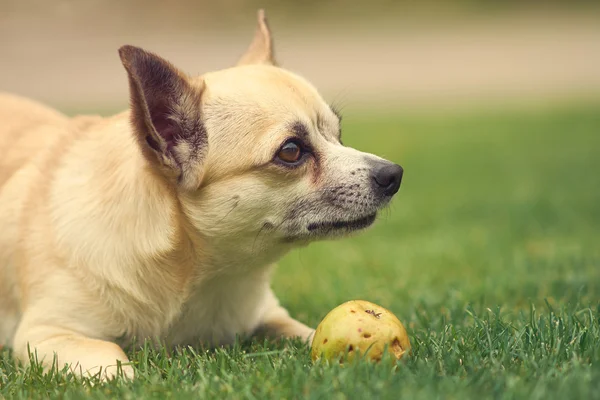
[[[68,364],[78,375],[100,374],[104,381],[118,375],[120,362],[123,376],[134,377],[133,367],[117,344],[88,338],[69,329],[21,324],[15,335],[14,349],[22,362],[29,362],[31,352],[46,369],[52,366],[56,356],[58,368]]]

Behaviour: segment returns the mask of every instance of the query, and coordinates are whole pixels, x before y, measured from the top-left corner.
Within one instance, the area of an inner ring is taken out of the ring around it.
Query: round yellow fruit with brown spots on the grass
[[[379,362],[387,348],[395,362],[410,350],[406,329],[389,310],[364,300],[352,300],[334,308],[317,327],[311,358],[344,363],[358,354]]]

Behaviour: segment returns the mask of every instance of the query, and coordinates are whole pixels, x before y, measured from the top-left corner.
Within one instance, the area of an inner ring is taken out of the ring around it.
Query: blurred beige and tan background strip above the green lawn
[[[353,107],[600,97],[600,2],[585,0],[1,0],[0,90],[118,110],[117,49],[190,74],[233,65],[267,11],[280,63]]]

